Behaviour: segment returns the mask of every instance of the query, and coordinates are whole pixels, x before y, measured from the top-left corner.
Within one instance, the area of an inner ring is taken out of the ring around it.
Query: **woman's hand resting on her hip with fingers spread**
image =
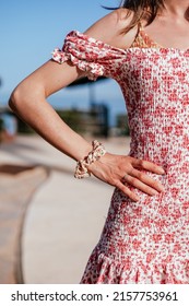
[[[138,201],[139,198],[125,186],[125,183],[137,187],[150,196],[164,191],[163,186],[158,181],[140,172],[140,169],[164,174],[164,169],[161,166],[149,161],[110,153],[106,153],[88,167],[88,170],[95,177],[117,187],[133,201]]]

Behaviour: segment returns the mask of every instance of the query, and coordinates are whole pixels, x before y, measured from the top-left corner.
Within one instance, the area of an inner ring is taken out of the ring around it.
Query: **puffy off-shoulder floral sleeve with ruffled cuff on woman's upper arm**
[[[70,60],[85,71],[90,80],[95,81],[101,75],[114,78],[123,54],[122,49],[72,31],[67,35],[62,49],[56,48],[52,51],[52,59],[59,63]]]

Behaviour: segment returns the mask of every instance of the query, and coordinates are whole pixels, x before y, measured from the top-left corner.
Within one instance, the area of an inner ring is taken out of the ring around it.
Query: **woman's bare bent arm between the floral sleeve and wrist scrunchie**
[[[62,121],[46,98],[83,74],[71,63],[49,60],[17,85],[9,102],[21,119],[74,160],[85,156],[91,144]]]

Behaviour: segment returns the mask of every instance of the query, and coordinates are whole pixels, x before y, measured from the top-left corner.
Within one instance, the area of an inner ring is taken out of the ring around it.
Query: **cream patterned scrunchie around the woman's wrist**
[[[84,178],[91,176],[87,167],[105,155],[106,150],[101,142],[94,140],[92,142],[92,146],[93,150],[87,154],[87,156],[76,162],[76,168],[74,173],[75,178]]]

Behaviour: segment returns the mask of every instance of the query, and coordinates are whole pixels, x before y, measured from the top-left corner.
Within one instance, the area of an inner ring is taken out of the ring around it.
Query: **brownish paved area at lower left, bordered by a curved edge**
[[[0,284],[23,283],[22,228],[27,205],[47,179],[43,167],[0,166]]]

